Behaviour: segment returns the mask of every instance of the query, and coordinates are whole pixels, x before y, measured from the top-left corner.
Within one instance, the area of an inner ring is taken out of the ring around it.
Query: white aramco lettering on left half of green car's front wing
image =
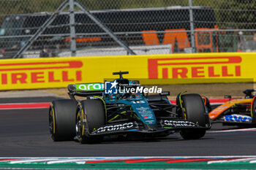
[[[129,128],[135,128],[134,123],[123,123],[123,124],[117,124],[117,125],[106,125],[101,128],[98,128],[94,133],[103,133],[103,132],[109,132],[109,131],[124,131],[128,130]]]

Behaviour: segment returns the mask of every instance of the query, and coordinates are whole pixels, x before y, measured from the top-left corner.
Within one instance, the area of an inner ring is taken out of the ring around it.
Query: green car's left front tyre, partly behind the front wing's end
[[[76,135],[84,143],[102,142],[102,136],[90,134],[105,125],[105,106],[101,100],[80,101],[76,117]]]

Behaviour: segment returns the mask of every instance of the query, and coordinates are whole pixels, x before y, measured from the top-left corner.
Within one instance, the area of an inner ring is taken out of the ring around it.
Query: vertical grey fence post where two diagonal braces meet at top
[[[71,40],[70,50],[71,55],[76,56],[74,0],[69,0],[69,14],[69,28]]]

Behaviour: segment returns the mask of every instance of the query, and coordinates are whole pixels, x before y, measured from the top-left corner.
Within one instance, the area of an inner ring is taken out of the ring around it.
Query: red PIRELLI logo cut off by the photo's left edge
[[[82,81],[82,61],[0,63],[1,85]]]

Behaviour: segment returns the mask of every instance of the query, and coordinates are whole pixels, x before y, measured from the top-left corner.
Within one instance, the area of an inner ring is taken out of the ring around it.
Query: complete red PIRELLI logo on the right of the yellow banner
[[[150,58],[149,79],[241,77],[240,56]]]

